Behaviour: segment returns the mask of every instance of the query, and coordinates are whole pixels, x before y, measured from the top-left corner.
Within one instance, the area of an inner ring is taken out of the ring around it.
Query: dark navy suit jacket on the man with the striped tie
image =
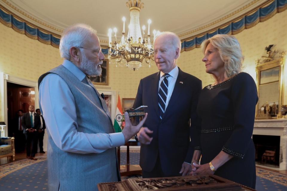
[[[147,105],[144,127],[153,131],[151,144],[141,144],[140,166],[150,172],[158,153],[166,176],[178,174],[184,161],[193,156],[193,130],[200,125],[196,114],[202,89],[201,80],[179,69],[170,101],[162,120],[159,117],[158,85],[160,72],[141,79],[133,108]],[[191,121],[191,126],[190,126]],[[190,141],[191,138],[191,141]]]

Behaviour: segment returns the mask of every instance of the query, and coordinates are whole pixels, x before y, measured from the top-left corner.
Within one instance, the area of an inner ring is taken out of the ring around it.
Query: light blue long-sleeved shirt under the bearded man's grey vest
[[[62,64],[80,81],[86,75],[73,63]],[[89,83],[93,86],[92,83]],[[96,93],[95,93],[95,96]],[[125,144],[123,133],[83,133],[77,131],[75,100],[68,84],[56,74],[48,74],[39,86],[39,103],[45,124],[53,141],[63,151],[102,153]],[[91,114],[92,115],[92,114]],[[110,123],[110,121],[107,121]]]

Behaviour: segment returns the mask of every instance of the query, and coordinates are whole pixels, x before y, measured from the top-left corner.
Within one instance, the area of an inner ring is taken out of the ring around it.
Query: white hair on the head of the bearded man
[[[70,48],[83,46],[86,38],[93,34],[97,34],[97,31],[87,24],[79,23],[66,28],[59,45],[61,57],[70,60]]]

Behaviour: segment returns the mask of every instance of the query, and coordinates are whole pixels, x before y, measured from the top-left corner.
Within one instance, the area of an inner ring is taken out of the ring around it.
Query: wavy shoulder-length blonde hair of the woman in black
[[[202,42],[202,51],[208,44],[212,44],[219,52],[220,58],[224,62],[225,78],[230,78],[242,71],[242,50],[238,40],[231,35],[215,35]]]

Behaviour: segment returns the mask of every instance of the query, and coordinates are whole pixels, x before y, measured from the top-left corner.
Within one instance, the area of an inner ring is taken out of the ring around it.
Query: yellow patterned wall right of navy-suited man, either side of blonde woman
[[[242,48],[244,60],[244,72],[249,73],[256,81],[255,60],[265,56],[264,48],[269,44],[275,44],[273,49],[287,51],[287,11],[277,13],[271,19],[258,23],[256,26],[245,29],[234,35]],[[178,66],[202,80],[203,87],[212,84],[213,79],[205,73],[204,62],[201,61],[203,53],[200,48],[181,53]],[[284,67],[284,84],[287,85],[287,62]],[[283,104],[287,104],[287,88],[284,90]]]

